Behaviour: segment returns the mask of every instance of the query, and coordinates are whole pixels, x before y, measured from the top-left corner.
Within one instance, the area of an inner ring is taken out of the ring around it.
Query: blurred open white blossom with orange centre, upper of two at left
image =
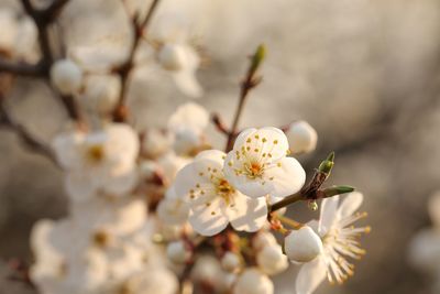
[[[127,124],[112,123],[90,133],[62,133],[53,146],[67,171],[66,187],[74,200],[89,199],[98,192],[123,195],[135,184],[139,139]]]

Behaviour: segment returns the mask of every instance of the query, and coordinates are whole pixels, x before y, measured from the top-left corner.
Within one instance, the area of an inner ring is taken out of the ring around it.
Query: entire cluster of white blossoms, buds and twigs
[[[204,94],[195,75],[202,56],[184,25],[144,34],[138,18],[129,56],[70,46],[62,58],[43,59],[44,77],[73,113],[50,148],[69,209],[35,224],[32,283],[42,294],[272,294],[272,276],[292,264],[300,266],[297,294],[312,293],[324,279],[343,283],[353,274],[350,260],[365,254],[359,238],[370,227],[354,227],[366,216],[358,213],[361,193],[321,187],[334,154],[306,184],[294,156],[316,149],[316,130],[306,121],[240,130],[241,106],[229,129],[195,102],[179,106],[164,128],[136,129],[128,119],[127,80],[143,58],[185,95]],[[28,28],[11,13],[1,12],[0,23]],[[14,59],[6,53],[18,52],[20,39],[8,32],[0,54]],[[261,81],[263,58],[258,47],[240,105]],[[209,140],[210,121],[226,135],[224,150]],[[319,220],[301,224],[286,211],[295,203],[317,210],[318,200]]]

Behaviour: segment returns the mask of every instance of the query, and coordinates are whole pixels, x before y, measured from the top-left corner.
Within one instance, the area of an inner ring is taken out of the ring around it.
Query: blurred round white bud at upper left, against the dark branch
[[[81,87],[82,72],[70,59],[61,59],[51,68],[51,81],[62,94],[70,95]]]

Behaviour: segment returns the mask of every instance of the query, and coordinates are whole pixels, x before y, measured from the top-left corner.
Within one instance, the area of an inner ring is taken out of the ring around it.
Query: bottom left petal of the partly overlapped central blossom
[[[195,231],[202,236],[213,236],[222,231],[229,224],[224,211],[224,202],[216,198],[210,206],[193,207],[189,214],[189,224]]]

